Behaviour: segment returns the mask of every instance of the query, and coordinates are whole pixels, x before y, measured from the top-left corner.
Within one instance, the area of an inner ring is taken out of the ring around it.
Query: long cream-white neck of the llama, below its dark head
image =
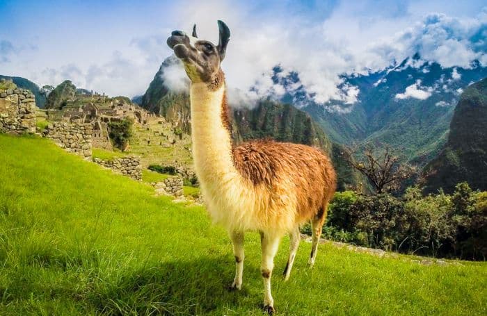
[[[212,91],[206,83],[191,84],[191,137],[195,171],[202,185],[225,185],[237,175],[232,160],[232,139],[225,126],[222,103],[225,84]]]

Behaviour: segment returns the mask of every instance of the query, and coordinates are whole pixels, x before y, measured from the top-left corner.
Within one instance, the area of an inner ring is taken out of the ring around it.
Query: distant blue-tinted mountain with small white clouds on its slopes
[[[479,63],[470,69],[442,68],[415,55],[381,72],[344,77],[346,85],[360,90],[353,106],[337,101],[319,105],[303,100],[302,91],[286,97],[300,99],[302,109],[333,141],[389,144],[401,149],[410,162],[422,166],[445,144],[462,90],[485,76],[487,67]]]

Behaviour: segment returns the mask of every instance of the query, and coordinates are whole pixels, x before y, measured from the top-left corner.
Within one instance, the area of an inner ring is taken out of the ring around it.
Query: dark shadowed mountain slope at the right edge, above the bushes
[[[487,78],[470,85],[454,110],[450,132],[440,155],[424,168],[426,192],[452,192],[467,181],[487,190]]]

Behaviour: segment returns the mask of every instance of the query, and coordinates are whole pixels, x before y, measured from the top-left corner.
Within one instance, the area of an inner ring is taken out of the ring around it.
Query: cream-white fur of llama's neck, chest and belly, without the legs
[[[267,188],[253,185],[234,167],[230,135],[221,121],[224,92],[223,85],[209,92],[205,83],[191,84],[193,158],[211,218],[228,231],[290,231],[295,226],[296,197],[283,195],[287,207],[273,220],[269,194],[260,194]],[[262,218],[262,210],[269,210],[267,218]]]

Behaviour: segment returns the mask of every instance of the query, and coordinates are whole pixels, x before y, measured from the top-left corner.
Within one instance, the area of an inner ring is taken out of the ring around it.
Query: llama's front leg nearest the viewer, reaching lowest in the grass
[[[264,311],[269,315],[276,313],[274,309],[274,300],[271,294],[271,276],[274,267],[274,256],[279,247],[280,238],[266,233],[260,234],[262,244],[262,264],[260,266],[260,273],[264,280]]]

